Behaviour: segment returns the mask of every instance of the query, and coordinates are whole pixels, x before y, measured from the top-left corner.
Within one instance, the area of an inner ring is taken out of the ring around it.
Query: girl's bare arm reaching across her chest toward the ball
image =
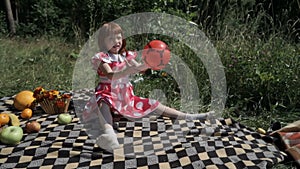
[[[121,71],[113,71],[108,63],[100,63],[99,69],[104,73],[104,75],[112,79],[120,79],[122,77],[125,77],[130,74],[139,73],[141,71],[144,71],[148,69],[149,67],[146,64],[140,64],[137,63],[135,60],[130,60],[130,62],[127,63],[127,66],[125,69]]]

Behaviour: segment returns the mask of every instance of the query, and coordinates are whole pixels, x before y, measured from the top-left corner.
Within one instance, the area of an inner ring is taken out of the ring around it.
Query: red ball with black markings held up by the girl
[[[170,61],[169,47],[160,40],[152,40],[142,52],[142,59],[153,70],[163,69]]]

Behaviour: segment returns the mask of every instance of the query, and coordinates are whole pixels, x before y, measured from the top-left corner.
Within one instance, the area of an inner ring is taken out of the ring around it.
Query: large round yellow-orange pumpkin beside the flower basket
[[[21,91],[14,98],[14,107],[18,110],[24,110],[25,108],[31,108],[33,106],[33,92],[29,90]]]

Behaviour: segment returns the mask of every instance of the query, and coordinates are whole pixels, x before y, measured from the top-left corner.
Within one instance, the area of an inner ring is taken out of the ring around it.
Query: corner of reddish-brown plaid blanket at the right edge
[[[280,139],[278,147],[282,147],[300,166],[300,120],[272,132],[270,135]]]

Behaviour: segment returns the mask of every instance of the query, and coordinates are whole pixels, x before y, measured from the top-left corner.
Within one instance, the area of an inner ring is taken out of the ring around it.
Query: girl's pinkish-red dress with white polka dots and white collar
[[[136,53],[129,51],[122,55],[100,52],[92,58],[93,67],[97,70],[100,78],[95,90],[95,101],[97,103],[105,102],[110,106],[112,112],[129,118],[141,118],[148,115],[157,108],[159,102],[135,96],[129,76],[110,80],[98,67],[101,62],[105,62],[113,71],[120,71],[126,67],[127,61],[135,57]]]

